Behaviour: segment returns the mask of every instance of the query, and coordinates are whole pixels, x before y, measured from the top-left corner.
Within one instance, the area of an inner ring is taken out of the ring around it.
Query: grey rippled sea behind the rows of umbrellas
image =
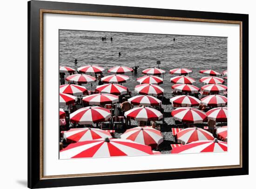
[[[136,78],[144,76],[143,69],[157,67],[166,71],[164,82],[160,86],[165,93],[171,92],[170,69],[192,69],[190,75],[197,82],[193,85],[201,87],[199,79],[205,75],[199,74],[201,69],[213,69],[220,73],[227,69],[227,38],[182,36],[165,34],[120,33],[101,31],[71,31],[60,30],[60,65],[77,69],[84,65],[99,65],[107,70],[114,66],[140,66],[138,75],[129,73],[131,81],[123,83],[130,91],[134,91]],[[101,38],[106,37],[106,41]],[[113,41],[110,41],[110,38]],[[175,38],[175,42],[173,41]],[[121,56],[118,56],[121,52]],[[74,64],[77,59],[78,64]],[[161,76],[162,77],[162,76]],[[227,84],[227,83],[225,83]],[[94,84],[95,88],[97,83]],[[84,85],[90,88],[89,85]]]

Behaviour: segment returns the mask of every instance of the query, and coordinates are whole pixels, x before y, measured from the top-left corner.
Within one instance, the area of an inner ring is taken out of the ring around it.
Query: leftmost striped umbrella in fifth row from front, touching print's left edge
[[[88,93],[88,90],[84,86],[66,84],[66,85],[60,86],[60,93],[79,96],[79,95],[86,95]]]

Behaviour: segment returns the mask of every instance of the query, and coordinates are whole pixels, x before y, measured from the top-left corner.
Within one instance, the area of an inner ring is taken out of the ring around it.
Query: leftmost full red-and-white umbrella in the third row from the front
[[[70,121],[80,124],[93,124],[106,121],[111,117],[108,109],[103,107],[82,107],[70,114]]]

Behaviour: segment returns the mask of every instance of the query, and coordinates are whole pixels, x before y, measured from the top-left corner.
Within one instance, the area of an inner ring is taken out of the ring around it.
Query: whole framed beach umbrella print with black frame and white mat
[[[249,174],[249,16],[28,2],[28,187]]]

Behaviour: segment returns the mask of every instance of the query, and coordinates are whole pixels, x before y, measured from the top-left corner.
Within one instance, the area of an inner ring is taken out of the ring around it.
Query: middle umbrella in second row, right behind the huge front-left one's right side
[[[121,139],[129,139],[142,145],[159,145],[163,142],[160,131],[152,127],[141,126],[126,130],[121,134]]]

